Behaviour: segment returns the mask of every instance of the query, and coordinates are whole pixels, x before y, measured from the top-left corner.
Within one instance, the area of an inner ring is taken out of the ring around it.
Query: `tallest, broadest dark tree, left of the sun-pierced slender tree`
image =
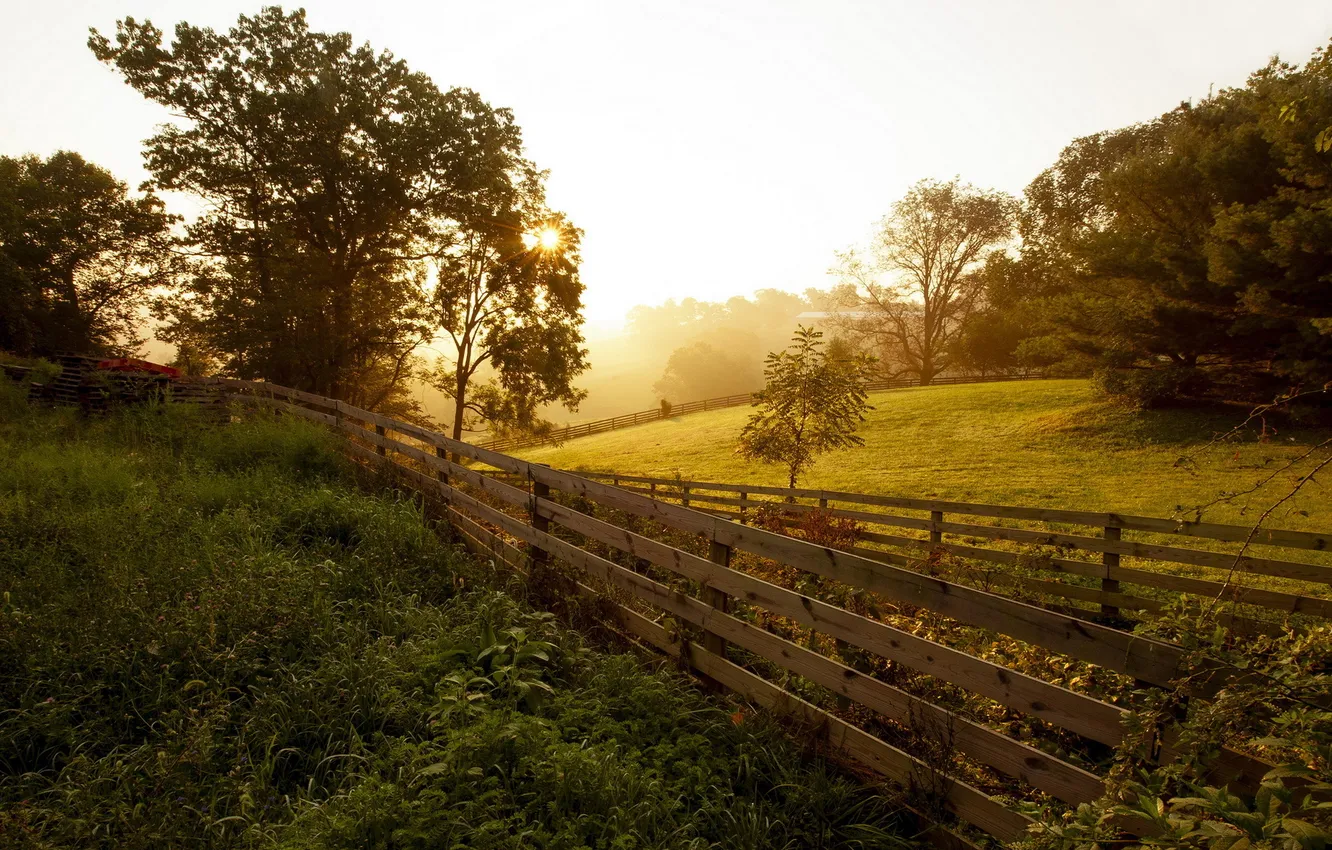
[[[374,408],[400,393],[429,337],[424,260],[441,221],[465,220],[521,175],[513,116],[302,11],[265,8],[226,33],[117,23],[89,47],[180,124],[149,139],[161,189],[206,212],[206,257],[163,305],[178,341],[225,372]]]

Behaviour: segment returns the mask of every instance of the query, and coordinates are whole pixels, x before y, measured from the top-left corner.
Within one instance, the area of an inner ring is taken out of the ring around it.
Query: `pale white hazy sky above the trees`
[[[258,3],[7,0],[0,153],[137,184],[165,115],[84,45],[117,17],[225,28]],[[1022,188],[1075,136],[1241,84],[1332,37],[1332,1],[336,0],[312,25],[510,107],[586,230],[587,316],[829,282],[920,177]]]

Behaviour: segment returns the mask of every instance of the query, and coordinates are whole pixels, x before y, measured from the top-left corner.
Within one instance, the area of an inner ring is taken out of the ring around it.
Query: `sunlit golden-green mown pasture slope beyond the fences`
[[[1208,449],[1188,469],[1176,461],[1241,422],[1244,408],[1135,413],[1075,380],[900,389],[874,393],[870,402],[875,409],[859,432],[866,445],[823,457],[802,486],[1167,516],[1247,489],[1328,436],[1283,425],[1272,442],[1248,434]],[[518,454],[562,469],[785,485],[777,468],[734,454],[749,414],[698,413]],[[1207,516],[1241,522],[1245,506],[1276,501],[1291,481],[1277,476]],[[1315,485],[1272,524],[1327,529],[1332,500]]]

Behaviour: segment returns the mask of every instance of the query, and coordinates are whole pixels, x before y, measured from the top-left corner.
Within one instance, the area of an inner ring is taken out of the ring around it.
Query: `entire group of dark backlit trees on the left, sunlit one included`
[[[137,196],[75,153],[0,159],[0,348],[121,352],[151,313],[190,372],[417,417],[412,384],[432,381],[454,436],[578,404],[581,232],[509,111],[302,11],[181,23],[169,45],[125,19],[88,44],[176,121],[145,143]],[[166,191],[204,212],[169,216]]]

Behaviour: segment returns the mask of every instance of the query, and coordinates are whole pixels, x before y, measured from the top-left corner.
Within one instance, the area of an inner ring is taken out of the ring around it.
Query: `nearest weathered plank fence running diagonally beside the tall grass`
[[[795,643],[759,628],[735,616],[733,601],[950,682],[992,701],[987,705],[1003,706],[1019,717],[1039,718],[1088,742],[1108,747],[1120,745],[1127,710],[947,642],[926,639],[882,618],[733,569],[733,553],[750,553],[884,601],[927,609],[958,624],[1008,636],[1139,682],[1168,686],[1185,661],[1184,650],[1172,643],[926,576],[860,552],[827,549],[698,510],[693,506],[694,490],[702,489],[698,484],[685,484],[689,489],[679,493],[690,504],[673,504],[653,498],[651,493],[607,484],[601,476],[530,464],[329,398],[265,384],[220,382],[232,392],[234,402],[304,417],[338,430],[348,437],[346,449],[357,461],[442,501],[453,528],[474,550],[521,569],[549,560],[562,562],[577,573],[579,592],[598,597],[598,608],[623,633],[678,657],[690,669],[747,699],[799,718],[815,739],[916,789],[918,799],[919,791],[927,789],[930,793],[924,797],[932,797],[940,811],[1002,841],[1024,837],[1032,821],[980,790],[975,782],[960,778],[951,757],[944,762],[927,761],[910,751],[910,742],[943,742],[962,757],[971,771],[968,775],[992,777],[994,787],[1026,787],[1030,789],[1027,797],[1048,795],[1070,806],[1099,797],[1103,778],[1088,763],[1075,763],[1015,739],[983,717],[954,713],[862,673],[815,649],[813,642]],[[650,490],[653,481],[639,484],[647,484]],[[807,496],[802,493],[802,497]],[[742,496],[737,501],[749,500]],[[747,509],[749,505],[737,508]],[[936,508],[960,513],[951,504],[939,502]],[[1147,525],[1154,532],[1167,530],[1160,525],[1164,521],[1158,520],[1096,517],[1107,528]],[[645,520],[655,525],[645,525]],[[926,530],[948,530],[939,525],[942,517],[932,522],[935,525]],[[1192,526],[1189,530],[1221,534],[1221,540],[1239,533],[1221,528]],[[651,529],[659,532],[654,536]],[[673,542],[659,540],[670,533],[675,534]],[[681,536],[706,544],[707,556],[687,550]],[[1271,532],[1265,542],[1313,548],[1316,540],[1321,538]],[[621,553],[622,560],[637,566],[617,562],[606,554],[610,552]],[[742,663],[750,657],[821,685],[836,695],[839,703],[858,703],[863,709],[858,714],[818,707]],[[1212,686],[1232,675],[1240,673],[1227,669],[1209,673]],[[868,727],[850,719],[862,717],[864,710],[872,718]],[[875,729],[892,730],[902,746],[875,734]],[[1162,755],[1169,758],[1171,738],[1166,735],[1156,743]],[[1227,750],[1219,775],[1221,781],[1231,781],[1235,789],[1252,789],[1269,767]],[[1134,823],[1126,826],[1147,829]],[[966,843],[947,831],[935,831],[932,837],[954,847]]]

